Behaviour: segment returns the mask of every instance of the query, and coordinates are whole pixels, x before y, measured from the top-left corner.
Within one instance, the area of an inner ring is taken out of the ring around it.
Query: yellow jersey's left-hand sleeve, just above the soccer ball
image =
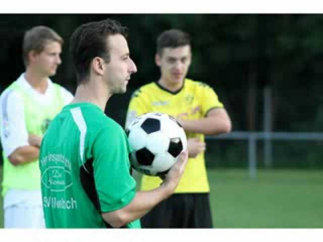
[[[127,117],[126,117],[126,127],[128,124],[137,116],[149,112],[147,106],[147,100],[141,91],[141,89],[136,90],[130,99]]]

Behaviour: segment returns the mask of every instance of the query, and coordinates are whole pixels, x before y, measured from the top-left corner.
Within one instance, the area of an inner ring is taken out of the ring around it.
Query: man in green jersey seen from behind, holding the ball
[[[104,114],[137,71],[125,37],[126,28],[111,19],[83,24],[71,37],[75,98],[52,120],[40,148],[48,228],[139,228],[138,218],[174,192],[184,171],[187,152],[162,185],[136,192],[125,132]]]

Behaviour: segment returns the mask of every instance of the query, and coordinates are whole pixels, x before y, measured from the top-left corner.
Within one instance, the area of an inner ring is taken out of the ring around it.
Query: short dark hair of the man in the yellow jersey
[[[161,56],[164,48],[177,48],[184,45],[191,45],[188,33],[178,29],[167,30],[157,38],[157,53]]]

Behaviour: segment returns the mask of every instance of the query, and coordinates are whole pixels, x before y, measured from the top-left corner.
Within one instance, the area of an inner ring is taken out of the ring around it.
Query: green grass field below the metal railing
[[[260,170],[255,179],[247,170],[209,170],[208,176],[214,227],[323,227],[323,170]]]

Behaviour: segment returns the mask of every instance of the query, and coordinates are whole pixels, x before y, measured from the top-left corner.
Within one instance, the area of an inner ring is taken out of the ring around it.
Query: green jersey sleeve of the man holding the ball
[[[136,194],[136,181],[130,175],[129,145],[121,129],[104,128],[93,145],[95,187],[101,212],[128,205]]]

